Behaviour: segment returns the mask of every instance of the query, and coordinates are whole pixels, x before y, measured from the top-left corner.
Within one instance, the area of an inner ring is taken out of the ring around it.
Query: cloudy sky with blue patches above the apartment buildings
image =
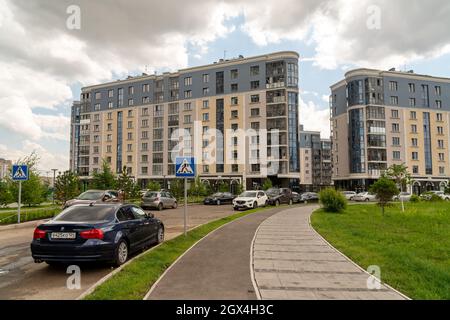
[[[450,77],[449,17],[448,0],[0,0],[0,158],[67,169],[82,86],[279,50],[301,55],[300,120],[327,136],[351,68]]]

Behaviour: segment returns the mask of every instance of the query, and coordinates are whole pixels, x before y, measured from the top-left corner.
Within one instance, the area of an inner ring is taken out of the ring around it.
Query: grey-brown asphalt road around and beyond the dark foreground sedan
[[[183,232],[183,207],[156,212],[166,226],[166,240]],[[189,227],[234,214],[230,205],[189,206]],[[105,265],[81,265],[81,289],[69,290],[65,267],[36,264],[31,258],[30,242],[34,227],[2,230],[0,228],[0,300],[76,299],[91,285],[111,271]]]

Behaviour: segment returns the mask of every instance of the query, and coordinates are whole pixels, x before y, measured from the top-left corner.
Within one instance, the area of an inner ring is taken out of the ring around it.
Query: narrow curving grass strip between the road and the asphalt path
[[[125,266],[119,273],[98,286],[86,300],[142,300],[164,271],[187,249],[210,232],[264,208],[240,212],[189,231],[187,236],[164,242]]]

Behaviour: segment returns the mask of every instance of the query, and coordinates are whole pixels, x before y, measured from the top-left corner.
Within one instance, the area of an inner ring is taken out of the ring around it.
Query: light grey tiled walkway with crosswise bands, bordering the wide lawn
[[[253,247],[253,270],[261,298],[405,299],[384,285],[380,290],[369,290],[368,274],[333,249],[309,225],[315,209],[288,209],[261,224]]]

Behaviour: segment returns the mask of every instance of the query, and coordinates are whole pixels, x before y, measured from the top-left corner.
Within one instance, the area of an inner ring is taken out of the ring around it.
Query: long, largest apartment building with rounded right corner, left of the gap
[[[89,179],[106,160],[145,186],[175,177],[175,155],[196,156],[203,180],[298,185],[298,59],[240,56],[82,88],[71,169]]]

